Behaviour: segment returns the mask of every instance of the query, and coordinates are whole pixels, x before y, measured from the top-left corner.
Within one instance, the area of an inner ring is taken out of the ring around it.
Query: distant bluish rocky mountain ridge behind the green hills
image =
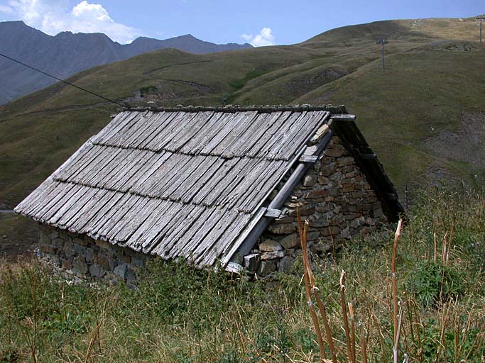
[[[195,54],[252,48],[247,43],[214,44],[190,34],[165,40],[139,37],[130,44],[120,44],[104,33],[63,31],[48,35],[23,21],[0,22],[0,38],[0,52],[62,79],[85,69],[164,48]],[[0,58],[0,79],[0,104],[55,83],[54,79],[3,57]]]

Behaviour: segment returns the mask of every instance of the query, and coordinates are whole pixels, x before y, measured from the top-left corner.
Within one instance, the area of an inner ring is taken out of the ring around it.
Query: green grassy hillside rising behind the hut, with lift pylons
[[[386,71],[375,44],[383,35]],[[443,177],[484,184],[485,48],[477,36],[473,18],[381,21],[290,46],[160,50],[70,81],[133,106],[346,104],[400,190]],[[0,205],[15,206],[118,110],[63,84],[1,107]]]

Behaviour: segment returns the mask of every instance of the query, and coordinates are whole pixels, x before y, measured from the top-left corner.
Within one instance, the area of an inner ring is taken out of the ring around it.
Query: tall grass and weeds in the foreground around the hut
[[[409,362],[483,362],[484,225],[484,193],[436,191],[413,208],[397,258],[400,352]],[[342,269],[355,311],[356,362],[361,346],[368,362],[391,362],[389,228],[312,257],[339,362],[347,362]],[[72,284],[36,262],[5,262],[0,362],[318,362],[301,262],[294,272],[248,282],[156,262],[129,289]]]

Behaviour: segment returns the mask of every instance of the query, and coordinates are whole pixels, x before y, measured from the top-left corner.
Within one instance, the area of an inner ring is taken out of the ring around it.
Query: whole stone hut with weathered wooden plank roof
[[[15,209],[40,253],[84,278],[136,280],[151,256],[264,276],[396,220],[396,189],[344,106],[134,108]]]

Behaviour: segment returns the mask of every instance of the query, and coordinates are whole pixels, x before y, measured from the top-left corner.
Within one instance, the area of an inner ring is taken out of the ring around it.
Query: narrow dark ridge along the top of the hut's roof
[[[258,113],[271,113],[277,111],[329,111],[331,113],[347,113],[347,109],[344,105],[332,106],[332,105],[251,105],[251,106],[240,106],[240,105],[221,105],[221,106],[182,106],[177,105],[175,107],[159,107],[156,104],[146,107],[129,107],[125,108],[124,111],[153,111],[153,112],[203,112],[203,111],[213,111],[213,112],[246,112],[246,111],[258,111]]]

